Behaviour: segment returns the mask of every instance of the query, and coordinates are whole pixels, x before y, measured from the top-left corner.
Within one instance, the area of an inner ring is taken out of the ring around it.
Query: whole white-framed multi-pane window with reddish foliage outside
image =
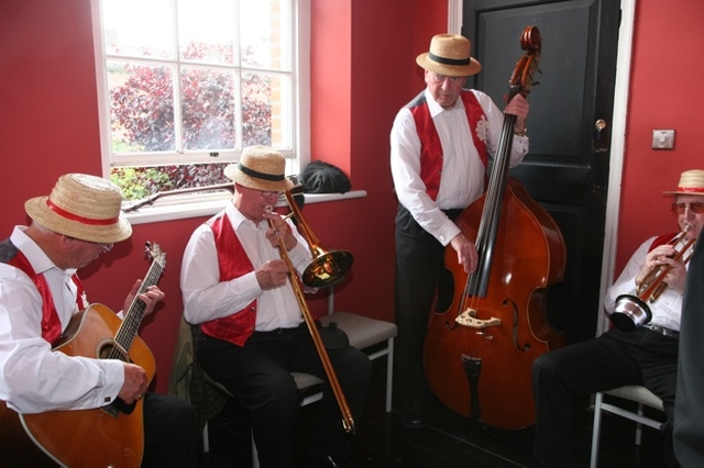
[[[223,165],[249,145],[282,151],[298,170],[293,86],[307,89],[308,81],[293,64],[297,41],[307,45],[308,35],[292,12],[295,5],[308,18],[308,0],[92,4],[102,29],[96,54],[106,91],[101,129],[110,130],[105,160],[129,199],[220,183]]]

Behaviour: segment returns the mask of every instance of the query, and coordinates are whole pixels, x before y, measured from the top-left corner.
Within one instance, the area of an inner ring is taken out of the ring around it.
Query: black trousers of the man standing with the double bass
[[[451,210],[446,214],[454,220],[461,211]],[[444,252],[446,247],[399,204],[396,214],[394,315],[398,336],[394,344],[394,386],[405,405],[420,401],[428,389],[422,366],[428,321],[439,289],[443,289],[446,281],[452,281],[451,274],[444,268]],[[443,302],[442,297],[439,302]]]

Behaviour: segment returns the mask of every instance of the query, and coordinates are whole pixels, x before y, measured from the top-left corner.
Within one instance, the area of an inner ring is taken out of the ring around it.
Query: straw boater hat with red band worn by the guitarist
[[[101,177],[64,175],[48,197],[28,200],[24,211],[44,227],[81,241],[108,244],[132,234],[120,188]]]

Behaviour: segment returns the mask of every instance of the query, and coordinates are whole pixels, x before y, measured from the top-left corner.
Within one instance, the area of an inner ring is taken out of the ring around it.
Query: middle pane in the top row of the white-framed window
[[[178,1],[178,46],[184,60],[234,64],[237,30],[231,0]]]

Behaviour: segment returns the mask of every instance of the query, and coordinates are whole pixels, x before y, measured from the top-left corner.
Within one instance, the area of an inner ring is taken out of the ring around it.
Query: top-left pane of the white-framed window
[[[174,58],[170,0],[103,0],[101,7],[108,54]]]

